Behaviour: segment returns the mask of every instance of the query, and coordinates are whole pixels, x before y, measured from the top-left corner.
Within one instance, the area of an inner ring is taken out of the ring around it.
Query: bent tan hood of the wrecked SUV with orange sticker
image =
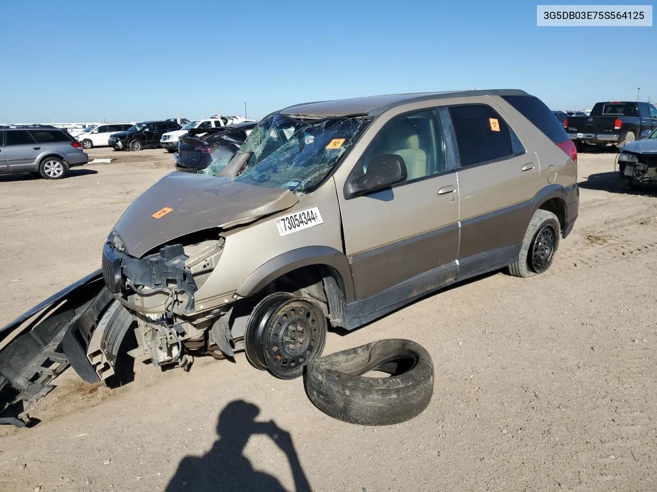
[[[298,201],[290,190],[174,171],[139,195],[114,231],[123,241],[125,253],[141,258],[176,237],[248,224]]]

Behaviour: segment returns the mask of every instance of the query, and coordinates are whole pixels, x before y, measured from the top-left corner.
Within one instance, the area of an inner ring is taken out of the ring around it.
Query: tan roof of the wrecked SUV
[[[387,94],[383,96],[367,96],[332,101],[306,102],[283,108],[279,113],[287,115],[309,116],[347,116],[368,115],[377,116],[401,104],[420,102],[431,99],[449,99],[468,96],[528,96],[525,91],[517,89],[488,89],[486,91],[443,91],[443,92],[411,92],[407,94]]]

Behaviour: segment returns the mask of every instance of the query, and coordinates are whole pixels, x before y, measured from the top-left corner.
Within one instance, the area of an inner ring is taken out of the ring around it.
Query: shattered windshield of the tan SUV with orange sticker
[[[238,182],[308,193],[356,142],[369,117],[294,119],[275,114],[254,128],[239,150],[251,152]]]

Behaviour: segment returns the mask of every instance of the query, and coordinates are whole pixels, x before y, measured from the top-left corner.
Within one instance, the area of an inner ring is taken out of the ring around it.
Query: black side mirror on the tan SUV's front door
[[[346,198],[365,195],[401,183],[408,176],[404,159],[396,154],[377,155],[367,165],[365,174],[346,183]]]

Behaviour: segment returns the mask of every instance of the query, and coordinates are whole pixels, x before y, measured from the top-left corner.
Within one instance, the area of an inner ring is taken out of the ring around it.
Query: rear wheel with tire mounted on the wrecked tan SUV
[[[545,264],[541,265],[541,268],[538,268],[538,262],[536,262],[537,264],[533,264],[534,262],[532,258],[534,253],[538,253],[536,250],[539,249],[539,245],[537,245],[536,241],[537,239],[540,239],[539,236],[550,235],[548,232],[544,232],[546,229],[551,231],[554,243],[549,247],[551,251],[548,252],[547,256],[549,257],[545,259]],[[530,225],[527,228],[525,237],[522,239],[518,262],[509,265],[509,274],[514,277],[533,277],[536,274],[542,274],[545,272],[545,270],[550,268],[556,250],[559,247],[560,234],[561,226],[559,225],[559,220],[556,218],[555,214],[541,209],[535,211],[532,220],[530,220]]]

